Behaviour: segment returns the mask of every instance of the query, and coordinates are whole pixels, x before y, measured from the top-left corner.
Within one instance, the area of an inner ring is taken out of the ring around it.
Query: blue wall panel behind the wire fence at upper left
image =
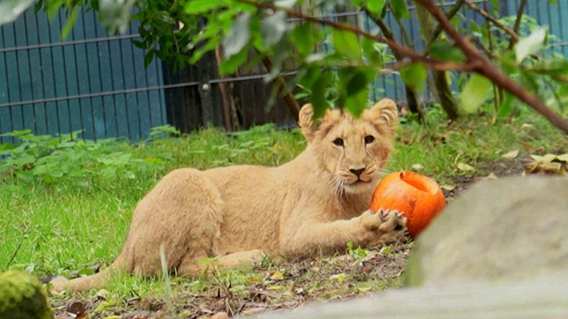
[[[66,39],[87,43],[58,44],[65,19],[62,12],[48,20],[31,9],[0,27],[0,49],[8,49],[0,52],[0,104],[163,85],[161,62],[145,69],[145,52],[132,39],[101,39],[108,35],[93,11],[83,10]],[[128,34],[136,35],[135,23]],[[38,44],[56,45],[16,48]],[[0,133],[31,129],[58,135],[82,129],[89,139],[139,140],[166,121],[163,90],[0,106]]]

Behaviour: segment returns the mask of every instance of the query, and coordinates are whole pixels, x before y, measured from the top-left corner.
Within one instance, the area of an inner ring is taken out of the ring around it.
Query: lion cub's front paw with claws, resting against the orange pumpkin
[[[373,246],[396,242],[407,232],[406,217],[396,210],[379,209],[376,213],[368,210],[362,213],[361,224],[372,233],[370,244]]]

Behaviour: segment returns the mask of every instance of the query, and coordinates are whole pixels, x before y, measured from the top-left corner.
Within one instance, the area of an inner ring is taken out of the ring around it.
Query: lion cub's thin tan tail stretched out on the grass
[[[125,271],[126,265],[126,258],[124,257],[124,252],[122,252],[110,266],[103,271],[97,272],[97,274],[71,280],[63,276],[57,276],[49,283],[52,284],[51,289],[53,291],[66,290],[80,292],[87,289],[101,289],[111,278],[113,272],[121,273]]]

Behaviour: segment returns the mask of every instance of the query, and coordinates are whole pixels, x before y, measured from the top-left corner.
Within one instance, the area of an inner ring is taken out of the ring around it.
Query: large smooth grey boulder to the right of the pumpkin
[[[407,286],[568,274],[568,178],[475,184],[414,245]]]

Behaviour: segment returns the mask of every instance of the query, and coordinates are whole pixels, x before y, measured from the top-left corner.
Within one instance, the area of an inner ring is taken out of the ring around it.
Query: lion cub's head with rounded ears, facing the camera
[[[299,125],[320,165],[332,175],[333,187],[357,192],[375,181],[392,148],[398,110],[382,99],[356,119],[349,112],[328,110],[312,121],[314,109],[300,110]]]

